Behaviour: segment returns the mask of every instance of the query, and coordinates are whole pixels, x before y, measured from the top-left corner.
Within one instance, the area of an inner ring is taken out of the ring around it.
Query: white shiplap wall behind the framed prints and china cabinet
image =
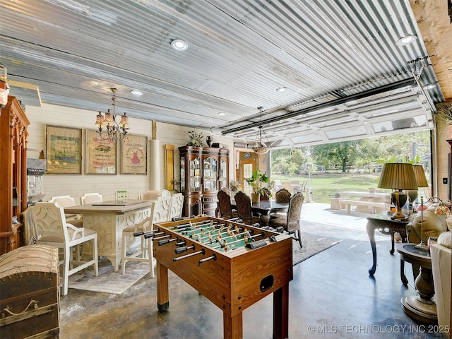
[[[160,168],[160,189],[165,189],[165,144],[174,145],[174,177],[179,179],[179,146],[186,145],[189,141],[188,131],[193,128],[157,122],[157,140],[159,141],[159,152],[157,155],[148,152],[148,174],[85,174],[85,130],[95,129],[94,121],[97,112],[61,107],[57,105],[46,105],[42,107],[26,107],[26,114],[30,119],[28,128],[28,149],[45,150],[45,130],[46,125],[65,126],[82,129],[82,174],[44,174],[43,194],[44,200],[52,196],[70,195],[79,202],[80,196],[85,193],[99,192],[104,197],[104,201],[114,200],[114,194],[118,190],[128,191],[129,198],[137,198],[139,194],[148,191],[151,187],[153,167],[150,162],[159,161]],[[129,133],[147,136],[148,141],[153,139],[152,121],[129,118]],[[198,131],[203,131],[199,129]],[[203,131],[204,136],[209,135],[209,131]],[[213,137],[214,142],[223,143],[230,149],[230,178],[234,175],[233,141],[230,138],[220,136]],[[39,153],[29,150],[29,158],[37,158]],[[148,144],[148,150],[150,145]],[[119,164],[118,164],[119,165]],[[155,185],[154,185],[155,186]]]

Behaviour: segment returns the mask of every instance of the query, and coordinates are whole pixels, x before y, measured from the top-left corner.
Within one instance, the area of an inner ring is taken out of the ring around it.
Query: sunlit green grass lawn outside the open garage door
[[[316,203],[330,203],[330,197],[340,191],[369,191],[376,187],[381,173],[325,173],[311,176],[313,199]],[[309,179],[307,175],[288,176],[272,175],[272,180],[287,182],[299,180],[300,184]],[[307,187],[309,186],[309,182]],[[390,192],[388,189],[377,189],[377,192]]]

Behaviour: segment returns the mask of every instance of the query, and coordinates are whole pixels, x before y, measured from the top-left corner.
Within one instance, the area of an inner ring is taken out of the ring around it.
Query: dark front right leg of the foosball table
[[[289,284],[273,292],[273,339],[289,338]]]

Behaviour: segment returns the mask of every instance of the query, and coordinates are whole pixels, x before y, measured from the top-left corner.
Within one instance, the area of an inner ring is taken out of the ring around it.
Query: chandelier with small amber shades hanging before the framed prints
[[[116,100],[117,100],[115,93],[116,93],[117,89],[110,88],[110,90],[113,92],[113,96],[112,96],[113,109],[112,110],[108,109],[107,113],[105,113],[105,116],[103,116],[102,112],[100,112],[100,111],[99,111],[99,114],[97,114],[96,123],[95,123],[95,126],[97,127],[97,129],[99,129],[99,131],[97,131],[97,134],[99,134],[99,137],[102,140],[123,141],[127,135],[127,130],[130,129],[129,117],[127,117],[126,113],[124,113],[123,115],[121,115],[121,120],[119,121],[119,124],[118,124],[118,122],[116,121],[117,114],[115,112]]]

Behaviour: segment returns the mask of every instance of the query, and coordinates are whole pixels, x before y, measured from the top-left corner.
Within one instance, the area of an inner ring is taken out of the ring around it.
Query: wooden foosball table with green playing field
[[[292,237],[203,216],[155,223],[157,308],[169,308],[168,269],[223,311],[225,339],[243,338],[242,311],[273,293],[273,338],[288,338]]]

